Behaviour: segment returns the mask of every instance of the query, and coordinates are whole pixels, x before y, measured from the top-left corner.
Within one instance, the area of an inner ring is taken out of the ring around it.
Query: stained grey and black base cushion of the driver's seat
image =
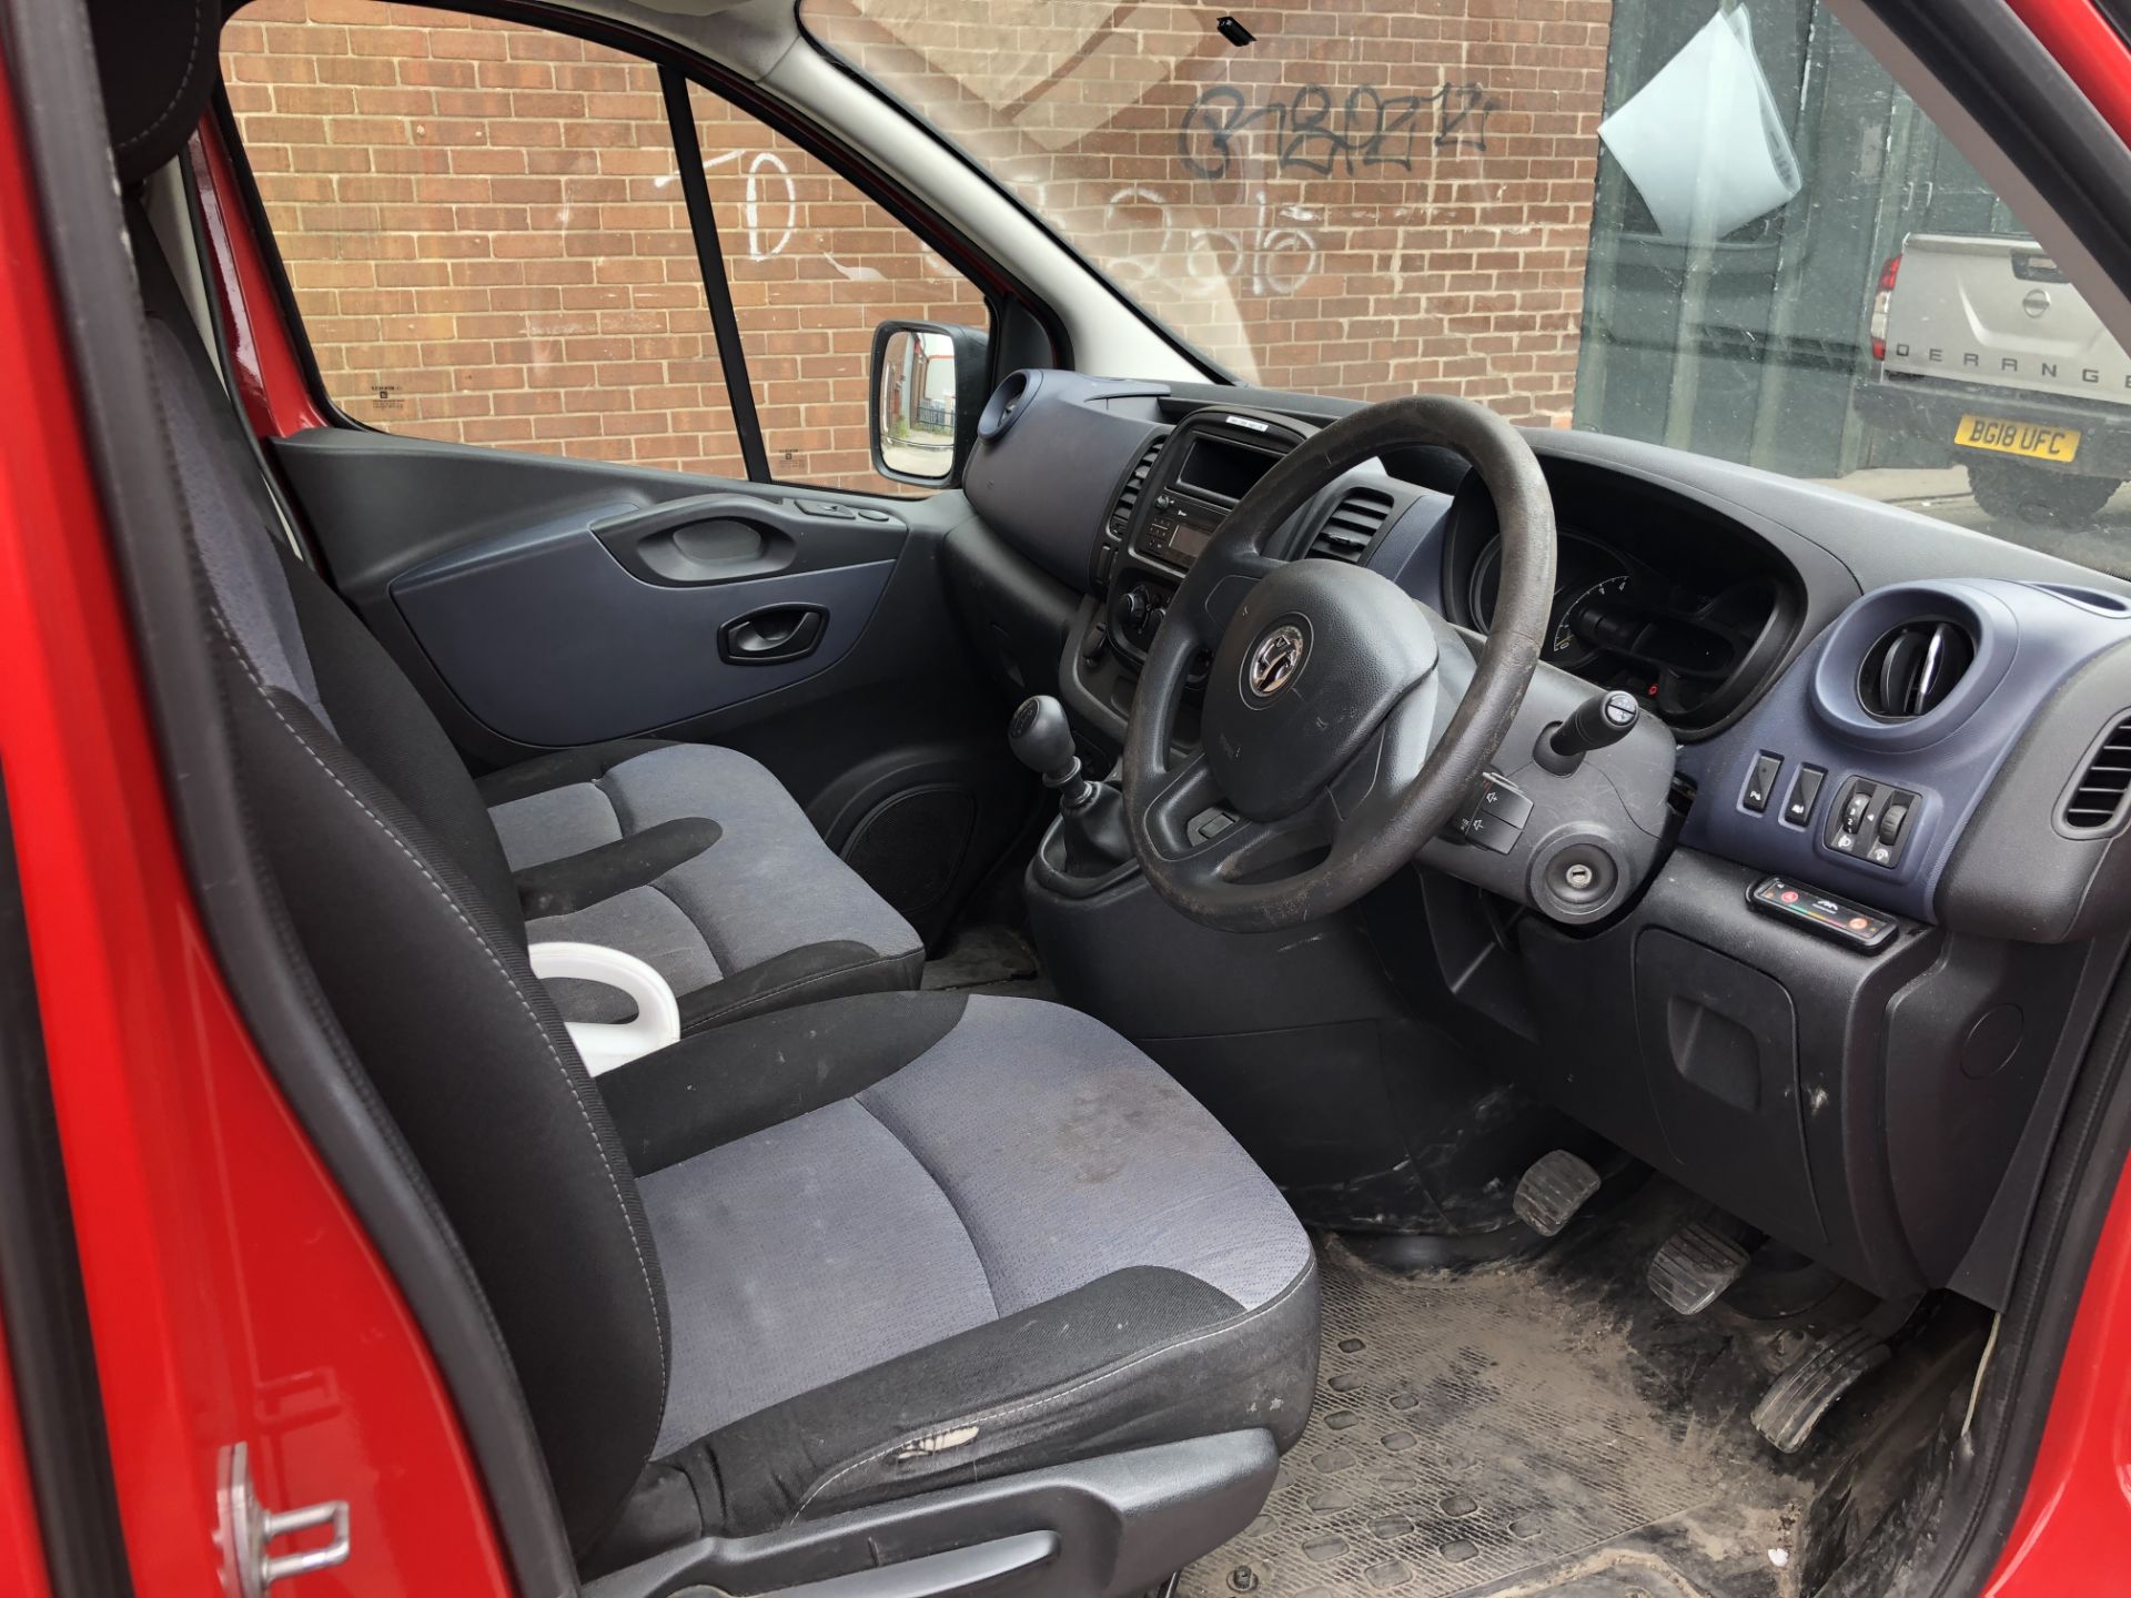
[[[609,1106],[673,1310],[658,1447],[703,1530],[1213,1432],[1300,1436],[1302,1227],[1085,1014],[808,1006],[639,1061]]]

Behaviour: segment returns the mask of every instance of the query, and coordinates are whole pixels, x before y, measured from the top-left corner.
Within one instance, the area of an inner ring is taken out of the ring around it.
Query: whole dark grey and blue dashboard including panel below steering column
[[[1353,407],[1008,386],[948,580],[1106,769],[1191,560]],[[1500,852],[1428,842],[1364,901],[1372,959],[1426,1025],[1843,1276],[1999,1302],[2131,935],[2131,584],[1660,445],[1526,439],[1558,577],[1487,782],[1530,818]],[[1494,616],[1494,505],[1428,445],[1328,482],[1266,552],[1368,567],[1475,648]],[[1541,771],[1534,731],[1615,688],[1645,707],[1632,759]],[[1549,891],[1564,861],[1583,897]],[[1070,920],[1104,937],[1100,906]]]

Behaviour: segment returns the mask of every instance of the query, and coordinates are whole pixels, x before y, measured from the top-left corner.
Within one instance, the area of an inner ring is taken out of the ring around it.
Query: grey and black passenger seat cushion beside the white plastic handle
[[[916,986],[925,948],[757,761],[622,739],[482,780],[526,935],[620,948],[680,999],[682,1029]],[[627,1021],[624,995],[550,984],[569,1021]]]

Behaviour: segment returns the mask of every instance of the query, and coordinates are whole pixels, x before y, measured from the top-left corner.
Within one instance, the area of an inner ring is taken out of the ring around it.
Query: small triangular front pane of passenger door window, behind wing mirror
[[[769,473],[910,492],[878,477],[867,454],[874,328],[982,328],[985,296],[791,138],[703,87],[688,98]]]

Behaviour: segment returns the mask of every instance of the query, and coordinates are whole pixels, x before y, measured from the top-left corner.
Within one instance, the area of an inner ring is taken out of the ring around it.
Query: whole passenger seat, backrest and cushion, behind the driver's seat
[[[173,384],[173,401],[196,411],[192,437],[213,441],[222,460],[243,460],[249,443],[234,409],[215,403],[226,390],[156,232],[139,207],[128,217],[158,354],[198,377]],[[673,989],[682,1033],[918,984],[916,929],[835,857],[784,784],[737,750],[627,739],[543,754],[475,784],[384,646],[271,537],[258,496],[234,501],[258,486],[179,454],[194,516],[243,526],[251,543],[219,558],[271,565],[279,554],[292,612],[262,620],[286,637],[286,686],[437,833],[497,914],[524,916],[535,944],[601,944],[646,961]],[[635,1012],[599,982],[548,986],[565,1021]]]

